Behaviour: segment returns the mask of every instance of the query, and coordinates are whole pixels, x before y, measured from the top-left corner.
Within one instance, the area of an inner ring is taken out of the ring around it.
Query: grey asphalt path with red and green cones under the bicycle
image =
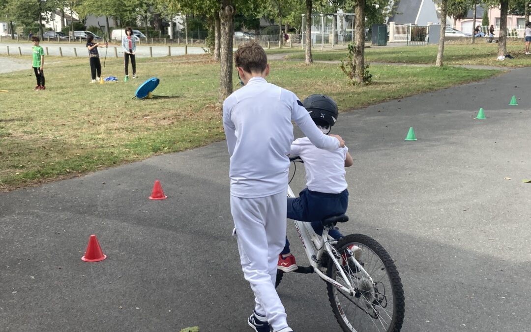
[[[530,75],[342,113],[333,128],[354,157],[342,232],[396,259],[404,331],[529,330]],[[0,330],[249,331],[227,174],[222,141],[0,193]],[[148,199],[156,179],[168,199]],[[81,261],[90,234],[106,260]],[[291,224],[288,236],[304,265]],[[339,331],[315,275],[286,275],[279,294],[294,330]]]

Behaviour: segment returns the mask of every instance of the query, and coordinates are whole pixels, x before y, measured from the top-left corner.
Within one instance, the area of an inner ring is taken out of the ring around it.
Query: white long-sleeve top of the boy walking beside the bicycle
[[[223,126],[230,155],[230,194],[266,197],[285,191],[293,142],[292,120],[318,148],[339,147],[323,134],[297,96],[254,77],[223,103]]]

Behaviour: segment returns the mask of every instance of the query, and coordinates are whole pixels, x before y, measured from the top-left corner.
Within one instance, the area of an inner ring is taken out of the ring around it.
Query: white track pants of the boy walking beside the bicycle
[[[255,296],[255,311],[275,331],[288,326],[277,291],[278,254],[286,244],[286,192],[260,198],[230,196],[245,280]]]

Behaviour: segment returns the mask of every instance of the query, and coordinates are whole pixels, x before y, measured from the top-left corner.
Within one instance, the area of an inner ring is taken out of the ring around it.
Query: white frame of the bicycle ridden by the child
[[[289,185],[288,185],[288,197],[295,198],[295,194],[293,193]],[[319,277],[321,277],[326,282],[350,294],[350,296],[354,296],[354,294],[356,293],[356,288],[350,283],[349,281],[350,278],[347,277],[347,275],[345,274],[344,268],[341,266],[341,264],[338,261],[338,258],[340,258],[341,256],[337,252],[336,248],[334,248],[334,246],[331,244],[331,242],[335,242],[336,240],[328,235],[328,229],[325,227],[322,233],[323,235],[319,236],[315,234],[310,223],[299,222],[298,220],[293,220],[293,222],[295,223],[295,228],[297,229],[299,240],[301,240],[301,243],[302,243],[302,246],[304,247],[304,251],[306,252],[308,261],[310,262],[310,265],[313,267],[313,271],[316,274],[318,274]],[[332,278],[328,277],[326,274],[323,273],[323,271],[319,269],[319,265],[317,262],[322,258],[323,254],[329,255],[330,259],[332,259],[332,261],[336,265],[337,270],[340,272],[341,278],[345,280],[345,283],[347,284],[348,287],[339,284],[338,282],[336,282],[336,280],[333,280]],[[361,266],[361,264],[354,258],[354,254],[351,257],[349,257],[349,259],[350,259],[350,262],[354,263],[354,265],[356,266],[358,271],[361,272],[363,277],[369,279],[371,283],[373,283],[371,276],[367,274],[367,272]]]

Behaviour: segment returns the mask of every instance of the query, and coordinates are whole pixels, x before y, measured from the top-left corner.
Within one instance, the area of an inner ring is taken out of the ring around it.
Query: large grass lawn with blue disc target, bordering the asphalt
[[[31,63],[30,57],[21,59]],[[195,62],[182,62],[182,59]],[[216,106],[219,64],[208,55],[139,59],[140,80],[91,84],[88,58],[47,57],[45,91],[24,70],[0,75],[0,191],[39,184],[224,139]],[[123,78],[121,59],[103,76]],[[499,71],[456,67],[370,67],[374,84],[351,87],[336,64],[272,62],[269,81],[299,98],[327,93],[342,111],[489,78]],[[235,74],[236,75],[236,74]],[[153,99],[131,99],[157,76]],[[236,84],[237,79],[234,78]]]

